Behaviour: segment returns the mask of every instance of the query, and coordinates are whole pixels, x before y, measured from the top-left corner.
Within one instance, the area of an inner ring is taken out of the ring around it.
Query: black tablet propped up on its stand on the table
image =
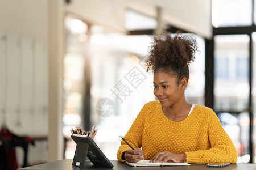
[[[95,165],[113,168],[113,164],[106,158],[92,138],[79,134],[73,134],[71,138],[77,144],[73,166],[83,168],[87,156],[90,162]]]

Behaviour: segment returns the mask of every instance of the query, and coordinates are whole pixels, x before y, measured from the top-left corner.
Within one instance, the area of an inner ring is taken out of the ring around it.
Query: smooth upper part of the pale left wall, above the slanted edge
[[[48,1],[0,1],[0,29],[47,41]]]

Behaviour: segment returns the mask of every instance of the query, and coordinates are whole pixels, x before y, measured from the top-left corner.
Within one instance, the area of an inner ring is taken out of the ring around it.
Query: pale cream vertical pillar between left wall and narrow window
[[[63,0],[48,0],[48,162],[63,159]]]

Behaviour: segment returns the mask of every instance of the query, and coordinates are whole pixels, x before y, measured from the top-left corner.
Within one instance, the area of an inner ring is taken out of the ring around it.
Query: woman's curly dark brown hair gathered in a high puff
[[[177,31],[174,35],[163,31],[154,37],[148,51],[146,69],[163,71],[177,78],[177,84],[184,77],[189,79],[188,66],[194,61],[197,51],[195,37]]]

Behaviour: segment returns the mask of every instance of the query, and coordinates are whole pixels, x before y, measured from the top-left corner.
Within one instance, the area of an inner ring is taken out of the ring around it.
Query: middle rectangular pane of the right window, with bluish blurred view
[[[248,35],[214,36],[214,110],[244,111],[249,106]]]

